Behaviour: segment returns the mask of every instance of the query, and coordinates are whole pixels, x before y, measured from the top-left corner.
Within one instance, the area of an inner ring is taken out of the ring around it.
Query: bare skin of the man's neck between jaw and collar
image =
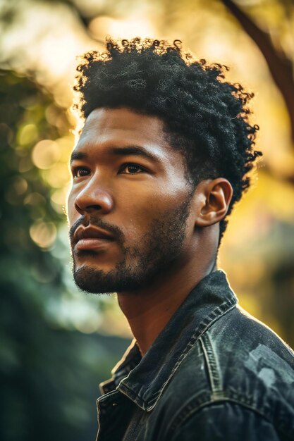
[[[203,229],[207,237],[201,238],[201,251],[194,252],[191,259],[177,268],[169,268],[167,273],[161,274],[147,287],[136,292],[118,293],[118,304],[142,356],[192,289],[202,278],[216,271],[216,242],[209,240],[209,235],[205,234],[208,229]]]

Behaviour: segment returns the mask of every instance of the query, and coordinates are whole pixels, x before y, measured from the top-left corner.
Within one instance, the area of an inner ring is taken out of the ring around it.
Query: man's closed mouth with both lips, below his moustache
[[[86,251],[86,250],[99,250],[103,249],[111,242],[114,242],[114,237],[106,232],[96,227],[84,228],[80,226],[75,231],[74,235],[75,251]]]

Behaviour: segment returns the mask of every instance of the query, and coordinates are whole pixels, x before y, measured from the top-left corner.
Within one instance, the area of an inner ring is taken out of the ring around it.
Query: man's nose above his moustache
[[[75,209],[80,214],[99,211],[102,214],[109,213],[114,208],[114,199],[101,180],[94,177],[87,182],[75,197]]]

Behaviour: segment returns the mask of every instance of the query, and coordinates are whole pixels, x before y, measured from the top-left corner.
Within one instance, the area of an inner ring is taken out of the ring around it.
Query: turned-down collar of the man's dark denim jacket
[[[143,358],[133,340],[111,380],[100,385],[102,392],[117,389],[141,409],[152,410],[200,335],[237,302],[226,273],[210,273],[190,292]]]

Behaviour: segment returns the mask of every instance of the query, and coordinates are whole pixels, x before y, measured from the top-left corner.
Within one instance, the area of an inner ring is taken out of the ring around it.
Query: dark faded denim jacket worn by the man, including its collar
[[[237,302],[214,271],[142,359],[133,342],[101,385],[97,440],[293,441],[293,351]]]

